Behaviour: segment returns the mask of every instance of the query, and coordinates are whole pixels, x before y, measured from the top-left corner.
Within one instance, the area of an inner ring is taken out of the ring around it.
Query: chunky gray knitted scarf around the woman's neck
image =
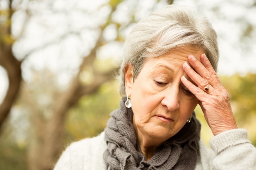
[[[195,113],[191,122],[159,146],[147,162],[137,144],[132,109],[125,107],[125,100],[126,97],[120,102],[119,110],[111,113],[112,117],[105,129],[108,149],[103,159],[111,170],[194,170],[201,130]]]

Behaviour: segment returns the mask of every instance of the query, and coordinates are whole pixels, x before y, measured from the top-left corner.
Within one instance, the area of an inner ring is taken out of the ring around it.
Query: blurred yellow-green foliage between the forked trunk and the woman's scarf
[[[110,113],[119,108],[121,97],[118,86],[117,81],[107,82],[96,94],[83,96],[70,110],[65,126],[67,143],[70,140],[93,137],[106,128]]]

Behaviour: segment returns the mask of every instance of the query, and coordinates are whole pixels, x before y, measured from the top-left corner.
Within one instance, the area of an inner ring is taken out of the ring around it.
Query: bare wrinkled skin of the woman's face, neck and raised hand
[[[197,104],[214,135],[237,128],[229,95],[201,49],[186,46],[148,57],[136,79],[132,65],[126,66],[125,75],[132,123],[147,160],[179,132]]]

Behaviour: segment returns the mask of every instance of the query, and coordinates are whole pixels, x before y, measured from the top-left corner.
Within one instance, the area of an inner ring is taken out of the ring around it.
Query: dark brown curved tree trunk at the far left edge
[[[11,18],[15,9],[13,9],[13,0],[9,0],[8,2],[7,6],[3,9],[1,7],[4,4],[1,3],[2,5],[0,6],[0,66],[6,70],[9,80],[9,88],[2,104],[0,105],[0,128],[4,120],[7,118],[16,97],[18,96],[20,83],[22,81],[22,61],[17,60],[12,53],[12,47],[15,39],[11,34]]]

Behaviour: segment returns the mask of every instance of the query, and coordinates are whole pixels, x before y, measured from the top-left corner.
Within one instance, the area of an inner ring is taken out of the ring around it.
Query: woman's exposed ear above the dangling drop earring
[[[130,96],[133,86],[133,66],[130,64],[127,64],[124,68],[124,74],[125,74],[125,92],[126,95]]]

